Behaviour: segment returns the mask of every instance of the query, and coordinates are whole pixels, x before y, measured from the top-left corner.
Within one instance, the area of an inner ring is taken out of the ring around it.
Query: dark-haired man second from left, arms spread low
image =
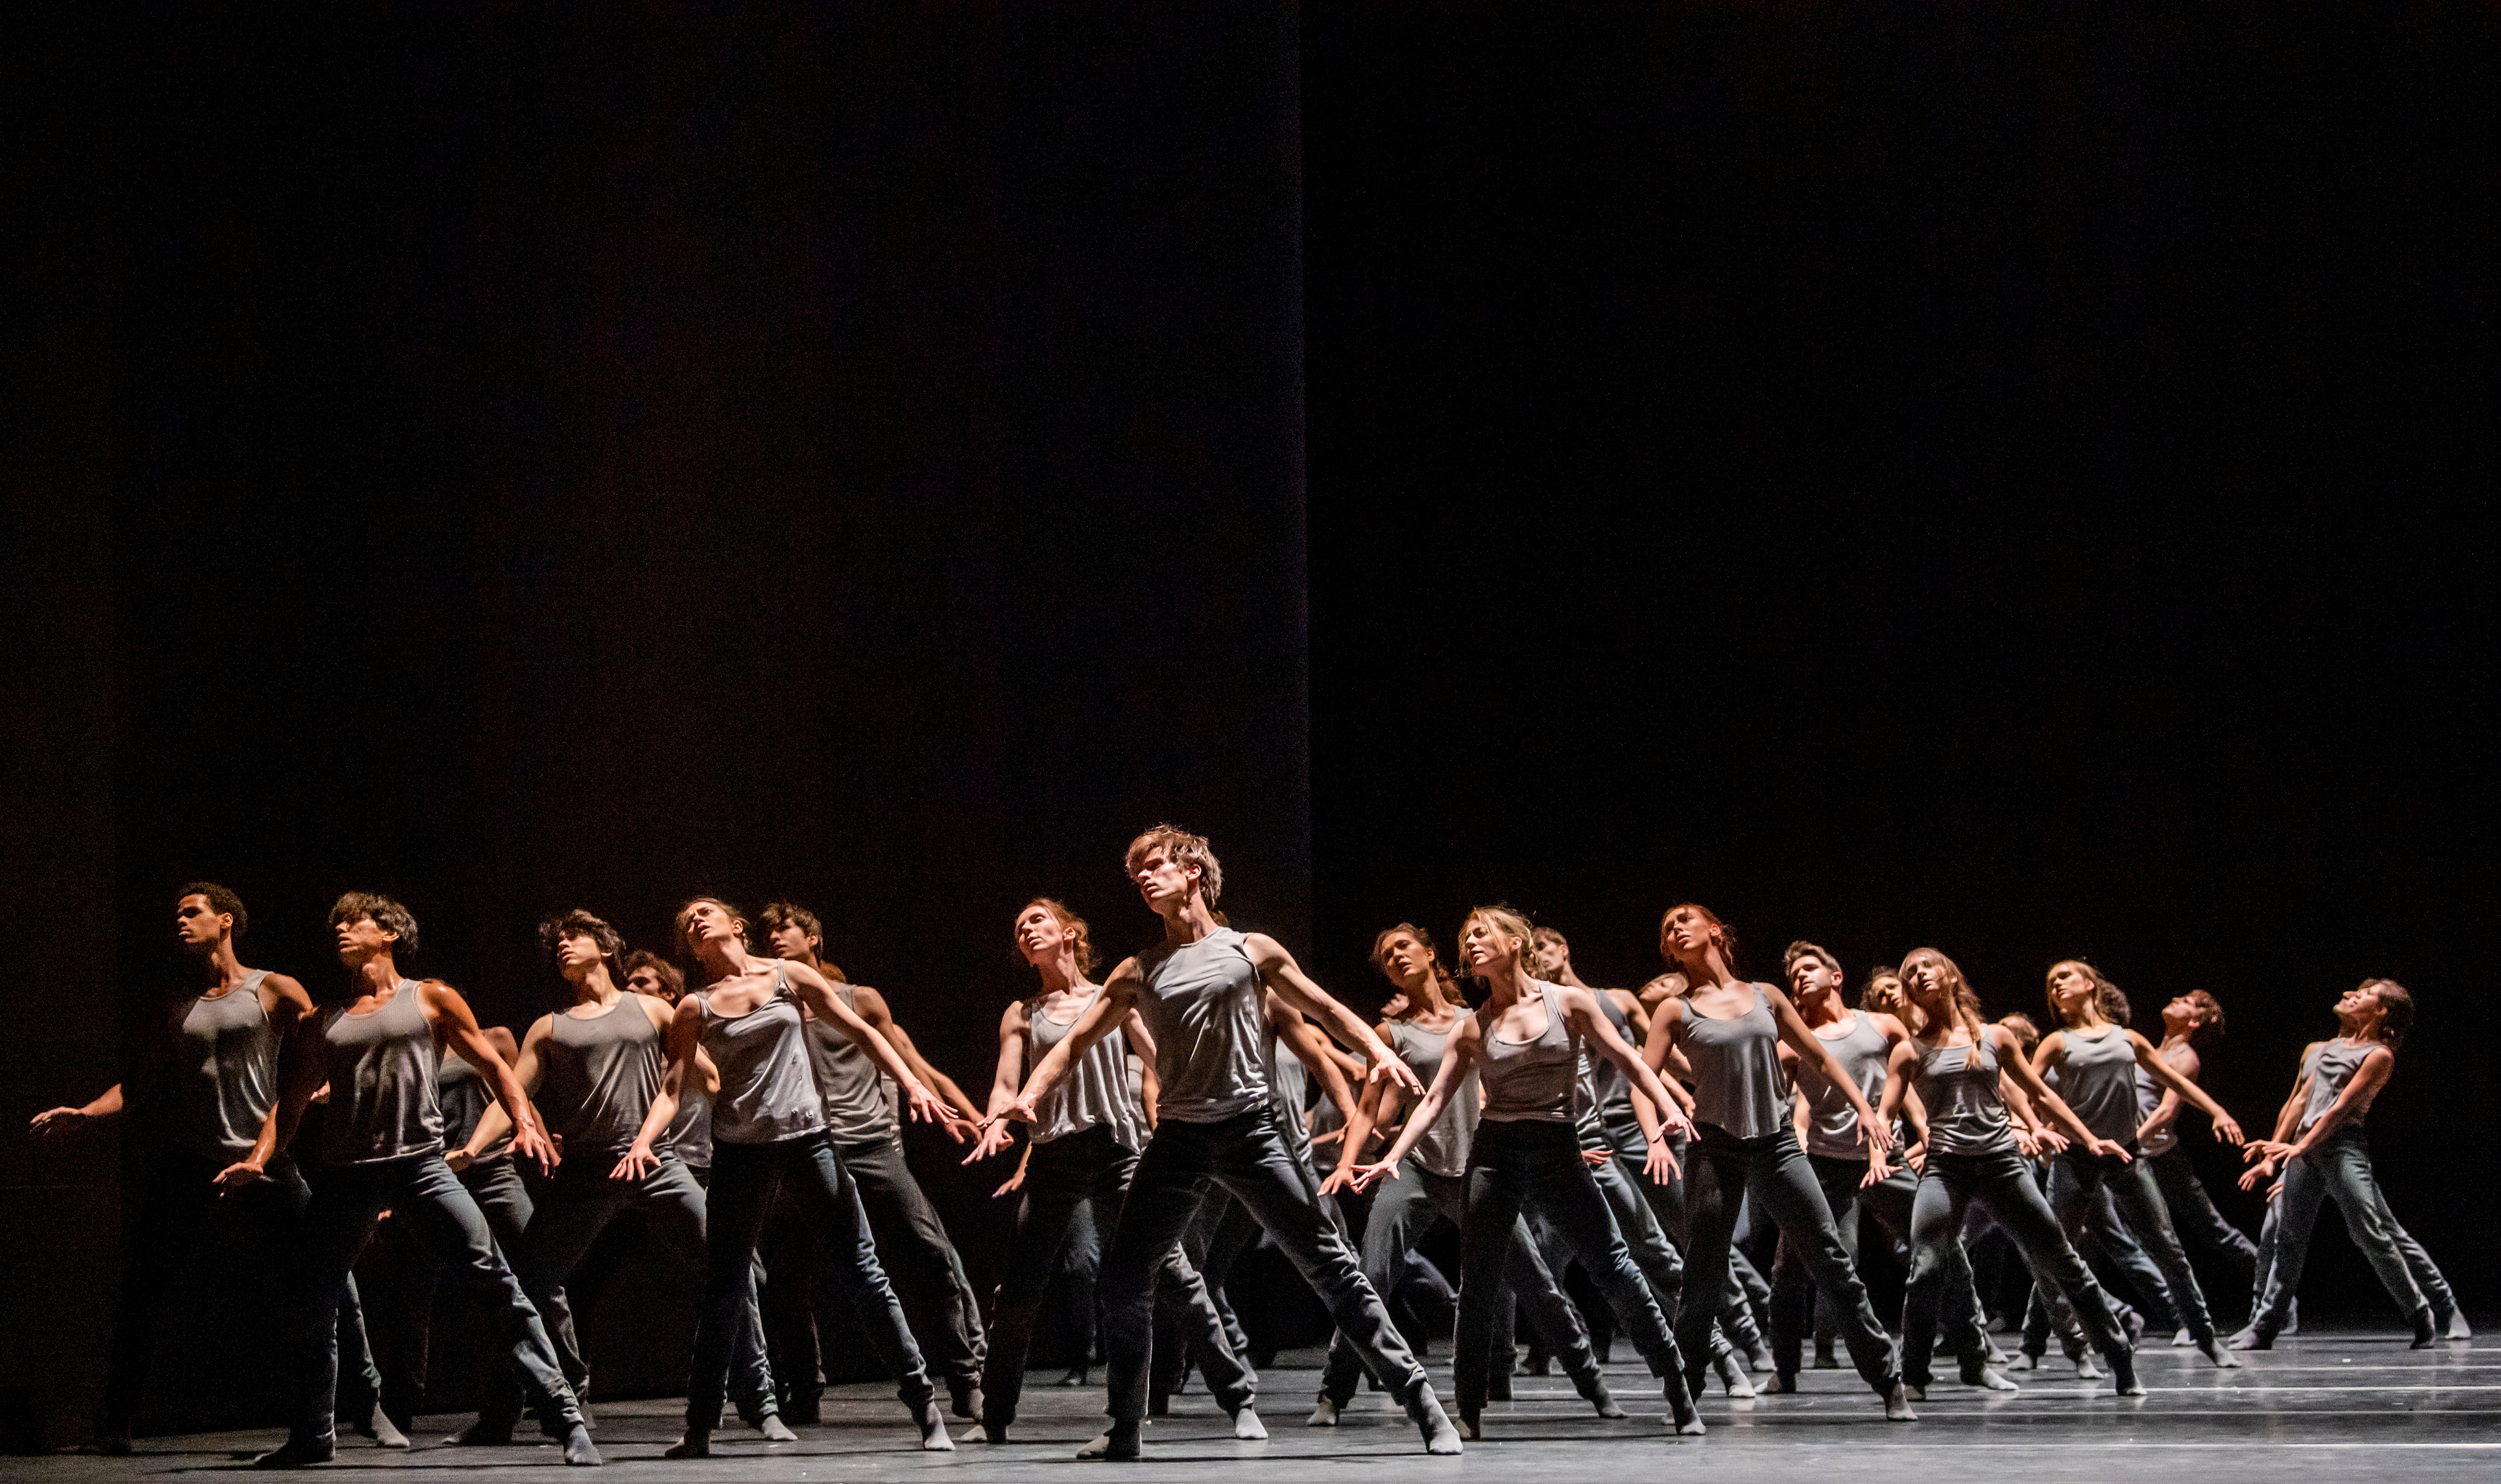
[[[475,1196],[443,1164],[443,1111],[435,1104],[438,1044],[450,1044],[490,1079],[495,1101],[513,1119],[513,1149],[553,1166],[548,1134],[530,1099],[513,1081],[495,1046],[478,1031],[468,1001],[440,978],[405,978],[398,956],[418,951],[418,918],[398,901],[350,891],[330,908],[338,958],[353,976],[355,996],[320,1014],[318,1034],[290,1036],[280,1064],[278,1114],[263,1144],[243,1164],[255,1174],[283,1151],[305,1104],[328,1081],[323,1116],[323,1179],[305,1211],[298,1259],[300,1314],[295,1329],[295,1419],[288,1441],[258,1459],[260,1466],[320,1464],[333,1451],[333,1396],[338,1391],[338,1304],[348,1269],[390,1209],[415,1221],[435,1259],[455,1266],[478,1304],[503,1329],[520,1366],[520,1381],[538,1404],[538,1426],[563,1439],[568,1464],[598,1464],[580,1406],[538,1309],[495,1249]],[[313,1024],[305,1026],[308,1031]]]

